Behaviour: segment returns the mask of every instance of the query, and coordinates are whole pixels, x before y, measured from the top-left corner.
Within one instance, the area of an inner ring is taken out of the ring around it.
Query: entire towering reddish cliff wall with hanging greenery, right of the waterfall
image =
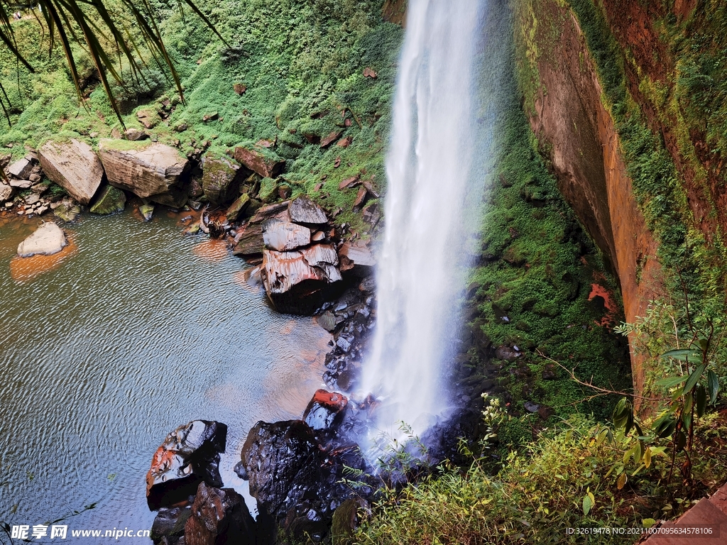
[[[727,151],[710,1],[516,0],[518,79],[561,193],[619,278],[627,321],[688,292],[724,310]],[[644,369],[632,344],[634,385]]]

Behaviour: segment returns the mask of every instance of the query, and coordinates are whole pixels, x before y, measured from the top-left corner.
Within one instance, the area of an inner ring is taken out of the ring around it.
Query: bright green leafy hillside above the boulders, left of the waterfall
[[[275,142],[286,159],[284,182],[294,193],[310,193],[340,220],[362,231],[351,211],[356,190],[338,190],[357,174],[385,182],[383,153],[390,102],[403,31],[381,18],[381,0],[198,1],[225,45],[175,2],[156,2],[161,35],[185,89],[185,102],[172,92],[168,74],[141,52],[142,77],[114,86],[125,108],[127,127],[142,129],[138,113],[148,113],[160,142],[184,153],[204,150],[220,156],[241,144]],[[111,104],[97,85],[92,65],[78,49],[86,99],[79,106],[59,49],[48,55],[48,36],[39,36],[32,17],[14,23],[20,49],[36,68],[18,67],[0,48],[0,78],[14,105],[12,126],[0,119],[0,147],[36,147],[50,137],[81,137],[92,145],[120,129]],[[364,76],[364,69],[375,77]],[[236,84],[237,91],[236,91]],[[171,111],[162,120],[164,102]],[[205,116],[208,121],[204,121]],[[180,130],[184,127],[186,130]],[[328,148],[318,140],[340,133]],[[337,146],[350,137],[348,147]],[[209,142],[209,145],[207,143]],[[313,143],[310,143],[313,142]],[[323,187],[316,191],[318,183]]]

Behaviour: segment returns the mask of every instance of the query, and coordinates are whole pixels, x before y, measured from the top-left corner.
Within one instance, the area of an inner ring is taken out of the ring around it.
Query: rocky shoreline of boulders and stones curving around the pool
[[[55,216],[21,246],[44,230],[65,241],[60,227],[87,207],[112,214],[131,203],[147,221],[155,206],[196,211],[185,233],[201,231],[226,241],[252,265],[248,283],[262,285],[279,312],[316,315],[318,325],[333,334],[323,376],[328,390],[313,395],[300,419],[255,424],[241,449],[236,472],[249,481],[257,520],[236,491],[223,488],[218,464],[227,427],[220,422],[193,421],[166,437],[148,472],[148,506],[158,512],[153,525],[158,544],[265,544],[276,542],[280,532],[292,540],[320,540],[332,531],[342,538],[353,532],[359,509],[368,509],[380,484],[377,468],[358,446],[377,401],[350,397],[376,325],[375,260],[357,233],[332,221],[338,211],[292,194],[280,176],[284,163],[272,150],[240,147],[230,156],[196,161],[158,142],[134,140],[105,140],[98,153],[77,140],[47,142],[20,161],[1,160],[6,180],[0,209],[31,218],[44,219],[51,211]],[[371,182],[345,179],[340,190],[357,191],[354,207],[375,235],[380,213],[376,201],[366,204],[378,197]],[[58,244],[35,253],[53,253]],[[469,408],[426,438],[435,460],[456,457],[458,437],[476,435],[475,398],[494,387],[469,376],[467,352],[492,350],[476,329],[460,339],[451,366],[463,396],[454,405]],[[344,479],[358,480],[355,493]]]

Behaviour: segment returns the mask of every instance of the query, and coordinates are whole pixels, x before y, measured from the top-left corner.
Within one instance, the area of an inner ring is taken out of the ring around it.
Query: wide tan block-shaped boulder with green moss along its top
[[[111,139],[100,140],[98,148],[111,185],[174,208],[187,201],[183,185],[189,162],[178,150],[154,142]]]

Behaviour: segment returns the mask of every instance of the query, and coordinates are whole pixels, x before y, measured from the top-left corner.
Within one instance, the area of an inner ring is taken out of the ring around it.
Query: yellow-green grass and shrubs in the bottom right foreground
[[[716,416],[707,416],[695,434],[694,475],[712,486],[722,482],[723,469],[715,469],[726,461],[727,429]],[[507,423],[502,413],[499,421],[499,427]],[[445,464],[401,495],[385,497],[356,540],[377,545],[634,543],[639,533],[614,534],[606,528],[649,528],[692,505],[680,485],[669,484],[670,456],[664,449],[651,448],[639,458],[634,454],[639,445],[608,425],[571,416],[544,430],[537,441],[510,451],[499,471],[476,456],[466,472]],[[481,443],[483,450],[489,446]],[[569,528],[601,531],[584,535]]]

